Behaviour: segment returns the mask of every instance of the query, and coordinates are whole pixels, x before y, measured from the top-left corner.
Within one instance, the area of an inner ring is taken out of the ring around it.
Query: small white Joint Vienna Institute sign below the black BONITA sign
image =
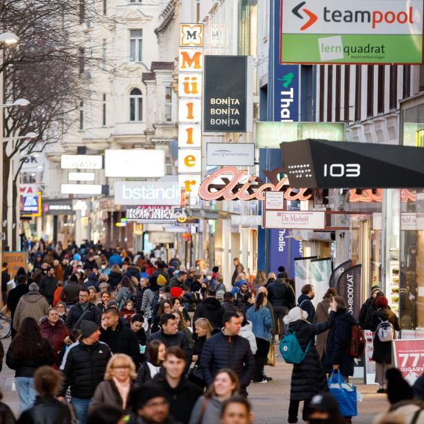
[[[254,143],[206,143],[206,165],[253,167],[255,165]]]

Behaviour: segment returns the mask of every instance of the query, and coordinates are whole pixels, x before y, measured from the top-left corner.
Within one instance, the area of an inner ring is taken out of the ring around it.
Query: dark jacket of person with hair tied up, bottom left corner
[[[71,424],[74,412],[69,403],[58,401],[54,396],[36,396],[34,406],[24,411],[18,424]]]

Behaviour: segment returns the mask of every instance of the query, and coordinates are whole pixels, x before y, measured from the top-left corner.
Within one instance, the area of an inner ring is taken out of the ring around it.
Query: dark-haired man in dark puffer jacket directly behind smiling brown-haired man
[[[160,328],[162,328],[162,330],[153,332],[149,339],[147,339],[147,344],[152,340],[160,340],[165,344],[166,348],[170,348],[171,346],[182,348],[186,358],[185,371],[187,372],[191,364],[192,351],[187,336],[184,332],[178,331],[176,317],[173,314],[162,315],[162,318],[160,318]]]

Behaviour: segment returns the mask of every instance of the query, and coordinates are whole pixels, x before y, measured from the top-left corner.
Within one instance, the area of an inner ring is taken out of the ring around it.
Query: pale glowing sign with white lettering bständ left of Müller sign
[[[116,181],[115,204],[177,205],[180,204],[180,191],[176,180]]]

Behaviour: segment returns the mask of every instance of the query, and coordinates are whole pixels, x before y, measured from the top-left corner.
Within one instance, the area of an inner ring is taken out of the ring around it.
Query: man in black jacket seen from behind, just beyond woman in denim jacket
[[[288,311],[295,306],[295,293],[292,288],[278,275],[278,278],[268,284],[268,301],[271,302],[274,310],[275,324],[279,321],[279,338],[281,339],[286,334],[286,326],[283,318],[288,314]]]

